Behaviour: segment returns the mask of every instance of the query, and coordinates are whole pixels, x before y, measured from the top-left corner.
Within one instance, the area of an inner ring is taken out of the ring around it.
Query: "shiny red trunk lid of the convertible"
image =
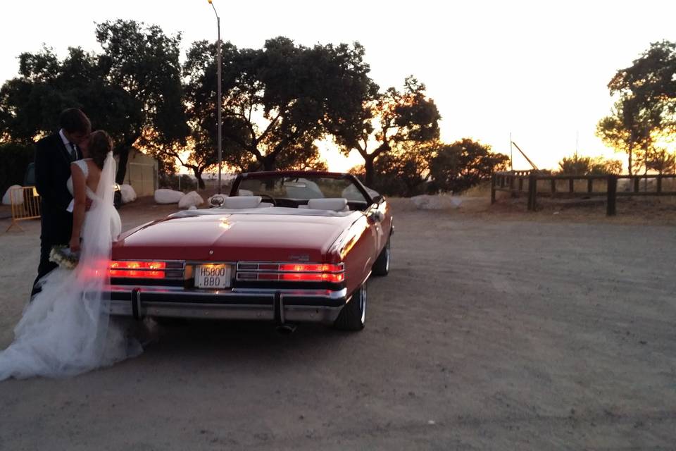
[[[360,215],[166,218],[123,235],[113,259],[325,261],[327,249]]]

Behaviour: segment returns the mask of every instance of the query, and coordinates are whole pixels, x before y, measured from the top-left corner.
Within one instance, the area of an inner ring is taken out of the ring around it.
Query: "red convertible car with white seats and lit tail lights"
[[[387,201],[343,173],[243,173],[213,208],[120,235],[116,315],[300,322],[361,330],[370,276],[389,271]]]

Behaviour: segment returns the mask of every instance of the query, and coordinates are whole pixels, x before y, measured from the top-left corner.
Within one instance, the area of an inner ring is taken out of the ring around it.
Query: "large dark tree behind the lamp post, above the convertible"
[[[227,43],[222,52],[224,160],[240,168],[271,171],[302,166],[294,158],[316,160],[313,143],[325,135],[323,122],[339,120],[340,98],[353,97],[356,89],[350,80],[368,72],[359,44],[308,48],[277,37],[263,49]],[[191,128],[204,130],[215,144],[214,53],[213,44],[195,42],[184,75]]]

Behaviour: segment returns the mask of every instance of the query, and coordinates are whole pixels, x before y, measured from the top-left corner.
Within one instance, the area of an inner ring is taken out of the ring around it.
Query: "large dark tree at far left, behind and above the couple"
[[[144,144],[139,137],[153,135],[157,146],[172,146],[187,134],[180,35],[168,37],[154,25],[117,20],[97,25],[96,39],[102,54],[70,48],[63,61],[48,48],[21,54],[19,76],[0,89],[0,134],[32,142],[58,128],[63,109],[80,108],[94,128],[113,137],[121,183],[129,149]]]

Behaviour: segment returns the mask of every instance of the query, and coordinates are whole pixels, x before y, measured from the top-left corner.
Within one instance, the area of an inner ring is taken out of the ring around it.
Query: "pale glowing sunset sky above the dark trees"
[[[509,154],[509,136],[541,168],[575,152],[613,156],[594,136],[613,104],[606,84],[661,39],[676,41],[676,1],[225,1],[221,35],[260,48],[283,35],[298,44],[361,42],[371,78],[401,87],[415,75],[442,114],[442,139],[472,137]],[[18,54],[42,44],[100,51],[94,23],[116,18],[182,32],[183,49],[216,38],[207,0],[13,1],[2,6],[0,81]],[[576,139],[577,137],[577,139]],[[516,152],[516,150],[514,151]],[[358,163],[326,152],[333,170]],[[618,154],[618,159],[624,160]],[[515,155],[515,168],[528,168]]]

